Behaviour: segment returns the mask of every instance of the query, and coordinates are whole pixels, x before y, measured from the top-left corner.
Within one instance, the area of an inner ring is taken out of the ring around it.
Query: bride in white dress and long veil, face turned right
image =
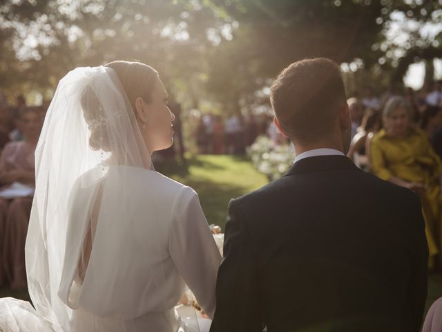
[[[189,286],[215,311],[220,253],[190,188],[155,172],[174,119],[140,62],[76,68],[60,82],[36,155],[28,302],[0,300],[0,331],[174,332]]]

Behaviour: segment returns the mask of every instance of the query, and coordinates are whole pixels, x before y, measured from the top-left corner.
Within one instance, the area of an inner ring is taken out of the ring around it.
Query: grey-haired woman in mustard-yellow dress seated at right
[[[404,98],[390,98],[385,104],[384,129],[376,133],[370,147],[371,170],[421,197],[429,266],[433,267],[442,243],[442,163],[425,133],[412,123],[411,116],[412,109]],[[441,263],[439,259],[437,265]]]

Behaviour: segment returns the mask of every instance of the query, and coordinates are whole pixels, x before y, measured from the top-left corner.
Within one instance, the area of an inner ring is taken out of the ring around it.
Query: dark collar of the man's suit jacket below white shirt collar
[[[361,169],[354,165],[352,160],[346,156],[314,156],[297,161],[284,176],[307,172],[329,171],[333,169],[353,169],[361,171]]]

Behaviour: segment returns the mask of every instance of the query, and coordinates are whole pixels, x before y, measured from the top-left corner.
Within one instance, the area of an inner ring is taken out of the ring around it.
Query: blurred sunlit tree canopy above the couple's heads
[[[424,0],[7,0],[0,89],[50,95],[76,66],[138,59],[189,105],[205,99],[238,111],[305,57],[399,82],[413,62],[441,56],[441,33],[422,30],[441,16],[442,1]],[[389,35],[392,25],[402,39]]]

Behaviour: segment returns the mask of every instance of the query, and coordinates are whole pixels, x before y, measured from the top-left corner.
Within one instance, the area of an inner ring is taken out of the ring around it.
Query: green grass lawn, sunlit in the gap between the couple
[[[227,205],[230,199],[255,190],[268,181],[259,174],[246,158],[234,156],[198,156],[186,164],[157,164],[158,172],[193,187],[200,196],[204,214],[209,223],[220,225],[224,230]],[[0,288],[0,297],[12,296],[29,299],[26,290],[13,291]],[[430,275],[428,280],[427,308],[442,296],[442,275]]]

